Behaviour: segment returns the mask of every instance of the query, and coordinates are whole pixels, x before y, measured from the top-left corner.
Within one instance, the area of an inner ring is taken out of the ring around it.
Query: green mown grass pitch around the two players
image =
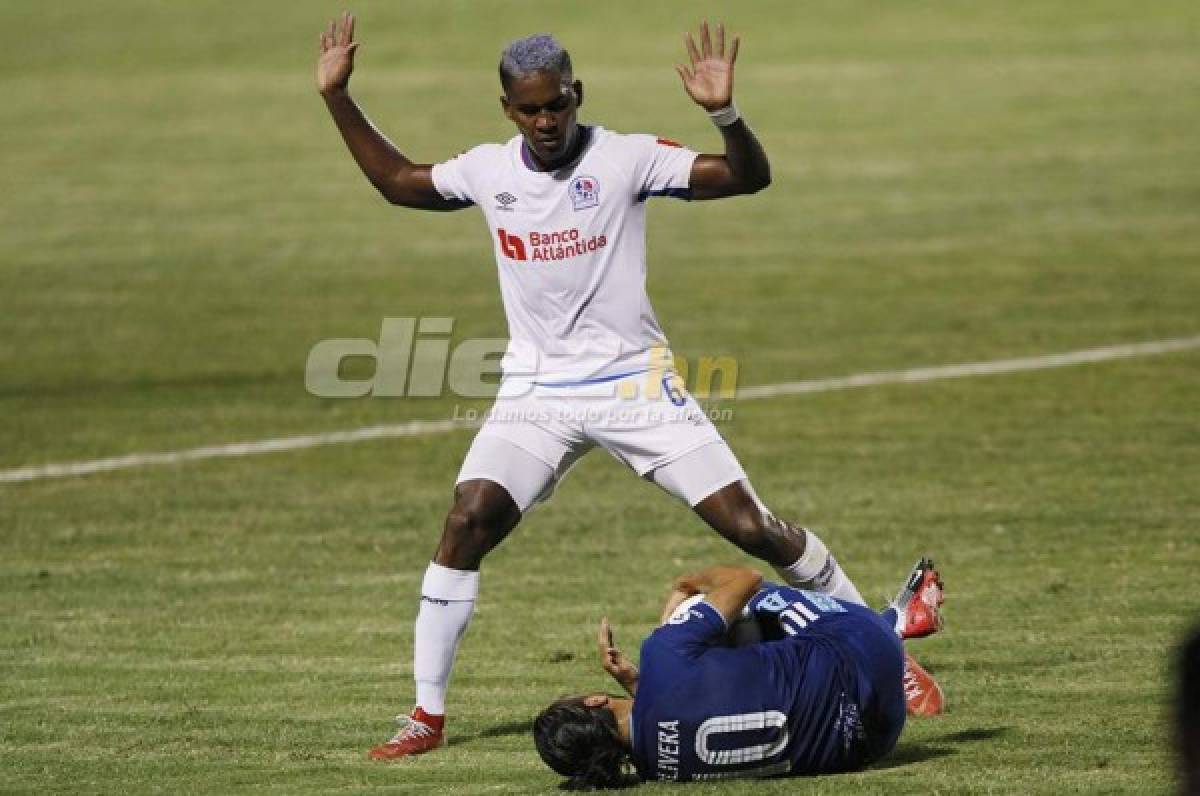
[[[0,469],[454,411],[304,389],[316,341],[384,317],[504,334],[479,214],[388,207],[326,118],[313,60],[338,10],[0,7]],[[706,13],[742,32],[738,104],[775,182],[661,202],[649,245],[676,349],[737,357],[744,385],[1200,334],[1195,4],[353,10],[355,95],[422,161],[511,134],[498,52],[547,29],[584,120],[713,149],[671,67]],[[1195,351],[736,403],[758,492],[864,593],[937,558],[949,626],[914,650],[949,712],[863,773],[688,792],[1171,790],[1198,409]],[[0,791],[552,791],[528,724],[607,687],[600,615],[636,652],[672,575],[746,559],[593,454],[485,565],[451,746],[370,764],[410,706],[469,442],[0,484]]]

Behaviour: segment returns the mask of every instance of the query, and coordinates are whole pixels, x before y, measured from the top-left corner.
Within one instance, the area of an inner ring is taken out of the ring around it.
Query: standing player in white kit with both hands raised
[[[690,67],[677,71],[718,126],[724,155],[577,124],[583,85],[568,53],[542,34],[512,42],[500,60],[500,103],[520,134],[436,166],[410,162],[350,98],[354,18],[320,35],[318,88],[371,184],[407,208],[482,210],[510,336],[496,407],[462,465],[421,586],[416,707],[372,758],[444,743],[446,683],[484,556],[596,445],[686,501],[790,585],[863,602],[817,537],[757,498],[664,364],[666,337],[646,295],[647,199],[719,199],[770,182],[767,156],[733,106],[738,40],[726,47],[724,26],[715,34],[714,41],[707,23],[698,44],[689,34]]]

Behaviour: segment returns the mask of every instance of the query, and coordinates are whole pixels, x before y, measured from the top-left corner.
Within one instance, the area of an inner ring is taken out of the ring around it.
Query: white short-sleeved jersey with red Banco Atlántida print
[[[630,372],[666,337],[646,294],[646,201],[688,197],[696,152],[580,126],[583,152],[535,169],[521,136],[433,167],[448,199],[484,211],[509,322],[504,372],[541,383]]]

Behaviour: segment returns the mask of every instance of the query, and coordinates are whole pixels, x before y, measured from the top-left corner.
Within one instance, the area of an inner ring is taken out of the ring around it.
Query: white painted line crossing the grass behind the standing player
[[[737,400],[754,401],[756,399],[776,397],[780,395],[828,393],[832,390],[845,390],[857,387],[876,387],[880,384],[916,384],[920,382],[964,378],[968,376],[1016,373],[1022,371],[1046,370],[1050,367],[1067,367],[1070,365],[1103,363],[1114,359],[1169,354],[1172,352],[1190,351],[1194,348],[1200,348],[1200,335],[1195,337],[1175,337],[1171,340],[1157,340],[1153,342],[1129,343],[1123,346],[1106,346],[1104,348],[1087,348],[1084,351],[1070,351],[1062,354],[1046,354],[1042,357],[997,359],[988,363],[966,363],[961,365],[942,365],[937,367],[914,367],[900,371],[858,373],[856,376],[845,376],[840,378],[817,378],[805,382],[762,384],[758,387],[745,387],[739,389],[737,393]],[[413,420],[410,423],[392,425],[367,426],[364,429],[354,429],[352,431],[329,431],[300,437],[259,439],[257,442],[240,442],[227,445],[206,445],[204,448],[192,448],[190,450],[130,454],[127,456],[94,459],[91,461],[62,465],[20,467],[17,469],[0,471],[0,484],[34,481],[42,478],[89,475],[91,473],[126,469],[128,467],[174,465],[178,462],[198,461],[202,459],[257,456],[259,454],[274,454],[284,450],[305,450],[307,448],[317,448],[320,445],[338,445],[352,442],[364,442],[367,439],[424,437],[434,433],[458,431],[462,429],[474,429],[480,424],[481,420],[467,420],[462,418],[449,420]]]

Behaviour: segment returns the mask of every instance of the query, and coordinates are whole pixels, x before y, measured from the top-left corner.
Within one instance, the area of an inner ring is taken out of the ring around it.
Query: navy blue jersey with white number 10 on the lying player
[[[895,746],[904,652],[877,614],[770,583],[750,609],[773,640],[727,646],[701,602],[642,644],[632,748],[644,779],[829,773]]]

